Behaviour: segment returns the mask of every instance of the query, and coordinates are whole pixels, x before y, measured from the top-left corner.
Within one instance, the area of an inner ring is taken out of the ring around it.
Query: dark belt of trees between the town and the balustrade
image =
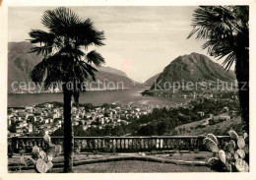
[[[131,123],[128,125],[120,124],[113,127],[106,124],[103,129],[90,127],[86,131],[83,130],[81,125],[74,126],[74,136],[124,136],[126,134],[132,134],[133,136],[175,135],[178,133],[175,131],[175,127],[205,118],[198,116],[198,111],[204,111],[205,114],[220,114],[225,106],[228,106],[230,111],[239,111],[238,101],[205,98],[203,101],[190,101],[188,107],[155,108],[151,113],[142,115],[139,119],[131,120]],[[56,130],[51,135],[63,136],[63,128]]]

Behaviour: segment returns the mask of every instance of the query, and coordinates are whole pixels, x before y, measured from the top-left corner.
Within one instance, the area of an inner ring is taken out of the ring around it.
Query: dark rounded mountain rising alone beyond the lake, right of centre
[[[234,82],[235,74],[233,71],[226,73],[220,64],[203,54],[193,52],[171,61],[160,73],[157,83],[163,87],[166,82],[173,85],[174,82],[217,82],[218,79],[224,82]]]

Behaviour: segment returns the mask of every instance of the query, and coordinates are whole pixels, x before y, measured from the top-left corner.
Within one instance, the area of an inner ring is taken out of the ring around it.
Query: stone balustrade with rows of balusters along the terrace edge
[[[152,136],[152,137],[75,137],[75,150],[81,152],[138,152],[152,150],[207,150],[204,136]],[[227,136],[217,137],[221,147],[229,140]],[[51,137],[55,145],[63,145],[63,137]],[[41,137],[8,138],[8,152],[32,152],[33,146],[46,148]]]

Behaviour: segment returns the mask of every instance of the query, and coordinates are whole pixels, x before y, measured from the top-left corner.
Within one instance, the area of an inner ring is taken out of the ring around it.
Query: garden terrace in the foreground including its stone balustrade
[[[108,168],[109,166],[116,166],[115,172],[167,172],[167,169],[172,172],[177,168],[180,171],[211,171],[207,159],[212,157],[213,153],[204,146],[204,138],[204,136],[75,137],[74,166],[78,172],[113,172],[113,169]],[[220,147],[229,140],[226,136],[217,138]],[[51,141],[55,145],[63,144],[62,137],[51,137]],[[34,172],[32,166],[21,166],[20,153],[30,154],[35,145],[42,149],[47,146],[41,137],[8,138],[8,144],[9,155],[11,152],[14,153],[13,157],[9,158],[9,171],[12,172],[19,170]],[[133,163],[141,167],[131,170]],[[162,164],[158,170],[153,168],[158,166],[157,163]],[[54,168],[51,172],[61,171],[63,155],[57,156],[53,164]],[[99,164],[105,168],[97,169]]]

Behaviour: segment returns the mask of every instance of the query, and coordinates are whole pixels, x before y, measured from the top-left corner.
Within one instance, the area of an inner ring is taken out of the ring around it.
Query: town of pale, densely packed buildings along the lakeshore
[[[72,123],[73,126],[79,126],[83,131],[89,128],[98,130],[107,127],[116,127],[120,125],[128,125],[142,116],[147,116],[152,113],[153,109],[159,108],[191,108],[190,101],[200,99],[228,99],[237,102],[237,94],[235,91],[223,91],[216,93],[196,94],[192,93],[193,98],[186,102],[176,103],[174,105],[147,105],[147,104],[107,104],[104,103],[100,106],[93,104],[82,104],[78,107],[72,108]],[[196,94],[196,95],[195,95]],[[186,95],[179,95],[182,98],[187,98]],[[197,98],[196,98],[197,96]],[[211,124],[212,121],[217,119],[230,120],[230,116],[237,114],[238,109],[229,107],[232,103],[224,106],[219,113],[205,113],[204,110],[194,112],[199,119],[206,120],[202,122],[201,127]],[[223,112],[228,112],[229,115],[224,115]],[[231,113],[230,113],[231,112]],[[221,122],[220,121],[220,122]],[[183,122],[185,124],[186,122]],[[182,124],[182,123],[181,123]],[[8,108],[8,136],[9,137],[24,137],[24,136],[42,136],[44,134],[51,135],[56,130],[63,126],[63,104],[61,102],[45,102],[32,106],[25,107],[9,107]],[[142,126],[142,124],[140,125]]]

